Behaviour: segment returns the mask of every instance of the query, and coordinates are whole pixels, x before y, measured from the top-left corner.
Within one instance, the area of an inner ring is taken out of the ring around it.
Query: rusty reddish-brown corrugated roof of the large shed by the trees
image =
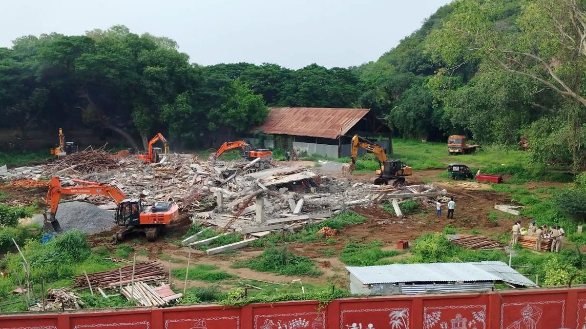
[[[367,108],[272,107],[267,121],[256,132],[293,136],[338,138],[366,115]]]

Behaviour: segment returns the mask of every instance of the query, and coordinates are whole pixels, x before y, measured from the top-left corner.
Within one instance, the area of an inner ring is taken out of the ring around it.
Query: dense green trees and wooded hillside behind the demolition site
[[[299,70],[202,67],[172,39],[124,26],[24,36],[0,48],[0,128],[23,146],[31,129],[63,126],[130,146],[161,131],[209,147],[206,136],[246,131],[270,106],[367,107],[396,136],[509,146],[526,136],[534,160],[583,167],[585,20],[581,0],[455,0],[377,61]]]

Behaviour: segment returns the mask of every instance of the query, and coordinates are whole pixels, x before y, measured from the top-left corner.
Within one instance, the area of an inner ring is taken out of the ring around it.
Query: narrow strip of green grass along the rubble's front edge
[[[264,247],[269,245],[278,244],[279,242],[293,242],[293,241],[300,241],[300,242],[312,242],[318,241],[321,239],[317,232],[323,227],[329,227],[337,229],[339,232],[342,231],[345,227],[350,225],[360,224],[366,221],[366,218],[362,217],[359,214],[354,213],[353,211],[345,211],[344,213],[335,215],[328,220],[319,222],[319,223],[310,223],[305,225],[305,227],[294,234],[270,234],[266,237],[257,239],[251,242],[250,246],[254,247]],[[336,240],[329,238],[326,240],[326,244],[335,243]]]

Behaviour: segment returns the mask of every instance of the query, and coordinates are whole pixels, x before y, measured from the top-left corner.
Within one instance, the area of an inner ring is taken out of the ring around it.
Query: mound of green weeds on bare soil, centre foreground
[[[234,268],[250,268],[258,272],[270,272],[290,276],[320,276],[322,272],[305,256],[295,255],[287,247],[270,246],[261,255],[246,261],[235,262]]]

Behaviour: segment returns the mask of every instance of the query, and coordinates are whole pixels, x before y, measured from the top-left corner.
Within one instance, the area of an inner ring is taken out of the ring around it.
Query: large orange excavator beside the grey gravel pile
[[[118,241],[124,240],[125,236],[132,232],[144,232],[147,234],[148,241],[155,241],[165,225],[179,217],[179,207],[171,202],[155,203],[155,205],[149,206],[144,200],[128,199],[124,192],[111,184],[79,179],[64,180],[73,181],[78,185],[62,186],[60,177],[53,177],[49,181],[47,209],[43,214],[45,217],[43,229],[47,231],[51,227],[56,232],[62,231],[55,214],[63,194],[91,194],[113,198],[117,204],[114,220],[117,225],[122,227],[116,233]]]

